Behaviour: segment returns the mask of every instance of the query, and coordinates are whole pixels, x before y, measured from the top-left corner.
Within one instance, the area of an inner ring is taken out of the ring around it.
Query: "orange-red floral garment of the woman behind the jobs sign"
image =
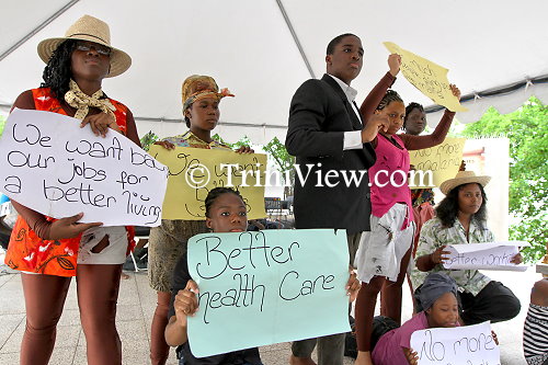
[[[59,101],[54,98],[49,88],[33,89],[34,105],[37,111],[46,111],[67,115]],[[127,107],[110,99],[116,107],[114,115],[121,132],[126,134]],[[55,220],[46,217],[47,220]],[[128,253],[135,247],[134,227],[126,227],[128,239]],[[18,217],[11,232],[5,263],[14,270],[56,275],[76,276],[76,265],[81,235],[75,238],[59,240],[44,240],[28,227],[26,220]]]

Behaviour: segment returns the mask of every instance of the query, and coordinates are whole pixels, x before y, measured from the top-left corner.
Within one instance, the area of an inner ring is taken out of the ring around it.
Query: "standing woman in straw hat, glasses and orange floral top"
[[[127,54],[111,46],[106,23],[84,15],[65,37],[43,41],[38,55],[47,64],[44,82],[19,95],[14,107],[73,116],[95,135],[114,129],[139,145],[132,112],[101,89],[104,78],[123,73],[132,64]],[[88,364],[122,364],[116,300],[132,229],[78,224],[83,213],[55,220],[13,205],[20,218],[5,261],[23,272],[26,328],[21,364],[48,363],[71,276],[78,283]]]

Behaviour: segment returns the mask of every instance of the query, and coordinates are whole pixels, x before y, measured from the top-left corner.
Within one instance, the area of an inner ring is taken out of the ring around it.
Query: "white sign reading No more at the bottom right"
[[[411,349],[419,355],[419,365],[501,364],[489,322],[414,331]]]

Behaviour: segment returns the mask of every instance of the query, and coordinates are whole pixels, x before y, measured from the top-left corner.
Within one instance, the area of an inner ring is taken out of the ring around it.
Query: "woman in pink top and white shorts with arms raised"
[[[390,55],[388,64],[401,64],[399,55]],[[372,141],[377,153],[369,169],[372,216],[369,232],[362,235],[356,253],[362,289],[356,301],[356,364],[372,364],[370,335],[377,295],[383,289],[381,315],[401,321],[401,287],[406,277],[413,239],[413,213],[408,186],[410,169],[408,150],[434,147],[445,139],[455,113],[445,111],[432,135],[397,135],[406,116],[406,106],[396,91],[387,89],[395,78],[387,73],[367,95],[361,112],[364,118],[376,113],[388,117],[388,126]],[[450,85],[458,99],[460,91]]]

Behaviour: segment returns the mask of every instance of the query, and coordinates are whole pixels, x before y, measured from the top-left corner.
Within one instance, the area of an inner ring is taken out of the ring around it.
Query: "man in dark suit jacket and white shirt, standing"
[[[366,169],[376,160],[369,141],[388,124],[378,115],[365,116],[364,123],[354,102],[357,92],[350,83],[362,70],[363,54],[362,42],[353,34],[329,43],[327,73],[302,83],[293,96],[285,140],[300,169],[295,178],[296,228],[346,229],[351,264],[361,232],[369,230]],[[344,333],[294,342],[290,364],[313,364],[316,342],[320,365],[342,365]]]

